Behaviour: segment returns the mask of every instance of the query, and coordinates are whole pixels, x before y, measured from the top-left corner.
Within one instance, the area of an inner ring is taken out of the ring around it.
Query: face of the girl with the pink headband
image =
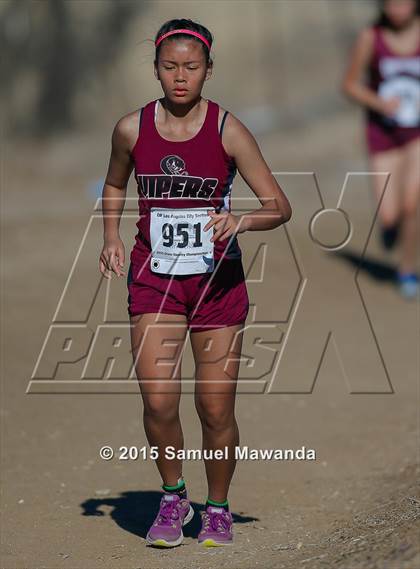
[[[196,99],[211,71],[202,46],[192,39],[164,40],[154,69],[165,97],[177,103]]]

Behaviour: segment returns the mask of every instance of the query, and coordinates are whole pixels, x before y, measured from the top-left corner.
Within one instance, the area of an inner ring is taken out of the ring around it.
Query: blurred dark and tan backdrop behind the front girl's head
[[[249,115],[257,134],[308,125],[345,110],[337,92],[343,57],[375,4],[235,1],[209,10],[200,2],[175,8],[171,2],[4,1],[6,132],[108,132],[107,119],[112,123],[160,95],[151,73],[153,38],[175,13],[200,20],[215,36],[206,94]]]

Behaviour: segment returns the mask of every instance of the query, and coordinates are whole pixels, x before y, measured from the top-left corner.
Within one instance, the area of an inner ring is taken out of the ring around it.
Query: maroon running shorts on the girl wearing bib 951
[[[219,259],[212,273],[162,275],[131,259],[128,313],[184,314],[191,332],[243,324],[249,311],[242,259]]]

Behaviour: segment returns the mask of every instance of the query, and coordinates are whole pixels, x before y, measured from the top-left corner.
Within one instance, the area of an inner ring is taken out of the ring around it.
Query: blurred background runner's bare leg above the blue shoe
[[[399,271],[409,273],[414,272],[419,244],[420,138],[407,144],[403,152],[405,177],[403,180]]]

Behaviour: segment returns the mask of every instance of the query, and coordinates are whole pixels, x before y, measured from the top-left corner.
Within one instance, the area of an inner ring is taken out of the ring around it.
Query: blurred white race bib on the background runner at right
[[[398,97],[400,106],[393,115],[398,126],[416,127],[420,124],[420,83],[408,76],[386,79],[379,85],[378,94],[383,99]]]

